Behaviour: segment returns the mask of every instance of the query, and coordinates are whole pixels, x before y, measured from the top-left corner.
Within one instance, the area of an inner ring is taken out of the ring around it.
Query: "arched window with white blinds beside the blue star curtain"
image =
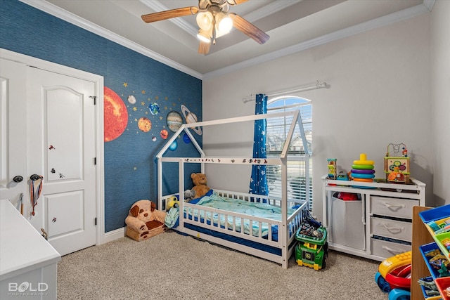
[[[309,154],[312,153],[312,103],[310,100],[297,96],[281,96],[268,101],[267,112],[287,112],[290,110],[300,110],[304,133],[307,138],[307,148]],[[280,117],[270,119],[266,130],[266,152],[268,156],[281,154],[284,141],[288,135],[288,130],[292,117]],[[312,157],[309,157],[309,182],[306,182],[307,168],[305,163],[299,159],[295,160],[293,153],[304,153],[304,145],[300,135],[300,129],[295,128],[292,143],[289,150],[290,162],[288,164],[288,197],[294,199],[308,200],[309,210],[312,210]],[[295,151],[295,152],[294,152]],[[281,172],[277,167],[270,167],[266,170],[267,182],[269,184],[269,195],[281,197]],[[308,193],[307,193],[308,192]]]

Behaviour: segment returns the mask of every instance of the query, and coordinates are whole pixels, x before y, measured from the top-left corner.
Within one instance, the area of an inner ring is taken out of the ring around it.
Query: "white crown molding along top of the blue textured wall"
[[[73,13],[63,10],[58,6],[55,6],[49,2],[44,0],[36,1],[36,0],[19,0],[29,6],[39,9],[40,11],[44,11],[45,13],[49,13],[50,15],[55,16],[56,18],[60,18],[61,20],[65,20],[66,22],[70,22],[71,24],[81,27],[84,30],[92,32],[94,34],[99,35],[100,37],[104,37],[105,39],[109,39],[110,41],[114,41],[117,44],[120,44],[124,47],[127,47],[131,50],[134,50],[138,53],[141,53],[143,56],[147,56],[149,58],[153,58],[160,63],[168,65],[169,67],[173,67],[176,70],[189,74],[195,78],[202,79],[202,74],[196,72],[184,65],[176,63],[174,60],[166,58],[165,56],[156,53],[155,51],[151,51],[148,48],[145,48],[139,44],[136,44],[134,41],[130,41],[129,39],[125,39],[124,37],[115,34],[114,32],[110,32],[110,30],[106,30],[103,27],[100,27],[93,22],[85,20],[84,18],[80,18]]]

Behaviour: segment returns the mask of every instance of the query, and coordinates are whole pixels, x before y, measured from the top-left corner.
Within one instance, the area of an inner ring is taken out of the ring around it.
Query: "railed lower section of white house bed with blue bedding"
[[[286,211],[287,225],[283,226],[280,200],[210,190],[201,198],[172,208],[182,209],[184,214],[179,218],[179,211],[170,211],[168,216],[176,220],[169,223],[182,233],[283,264],[293,252],[295,233],[307,209],[307,202],[295,201]]]

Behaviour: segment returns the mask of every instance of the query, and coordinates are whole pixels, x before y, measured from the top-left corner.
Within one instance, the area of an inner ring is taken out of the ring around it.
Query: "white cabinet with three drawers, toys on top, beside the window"
[[[323,225],[330,249],[368,259],[411,250],[413,206],[425,206],[425,183],[411,184],[330,180],[322,177]],[[338,193],[358,200],[340,200]]]

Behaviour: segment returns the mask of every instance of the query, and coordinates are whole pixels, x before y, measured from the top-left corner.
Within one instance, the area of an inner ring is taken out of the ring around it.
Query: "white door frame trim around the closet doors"
[[[32,56],[25,56],[24,54],[15,53],[13,51],[0,48],[0,57],[13,60],[18,63],[24,63],[32,67],[37,67],[42,70],[55,72],[58,74],[67,75],[70,77],[77,77],[86,81],[92,81],[95,84],[96,96],[96,244],[103,244],[105,241],[105,168],[104,168],[104,122],[103,122],[103,76],[77,70],[72,67],[58,65]],[[24,87],[25,89],[25,87]]]

